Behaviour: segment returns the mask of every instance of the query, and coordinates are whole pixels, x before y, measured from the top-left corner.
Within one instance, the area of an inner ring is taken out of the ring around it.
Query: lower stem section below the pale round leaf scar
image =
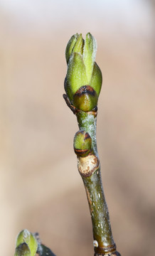
[[[82,176],[92,218],[95,252],[105,253],[116,250],[109,223],[109,213],[102,189],[100,167],[88,177]],[[97,241],[97,242],[96,242]],[[97,244],[96,244],[97,243]]]

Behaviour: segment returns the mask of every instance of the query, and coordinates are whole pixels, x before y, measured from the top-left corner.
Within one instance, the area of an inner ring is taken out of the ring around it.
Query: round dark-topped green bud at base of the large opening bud
[[[80,87],[73,97],[73,105],[84,112],[93,110],[97,106],[97,93],[90,87],[90,85],[84,85]]]

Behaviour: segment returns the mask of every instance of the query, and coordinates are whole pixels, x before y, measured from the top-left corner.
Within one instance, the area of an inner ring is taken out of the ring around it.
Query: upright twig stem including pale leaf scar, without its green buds
[[[66,95],[64,96],[64,99],[68,107],[70,107],[76,115],[81,132],[87,132],[92,139],[92,151],[90,154],[82,156],[80,155],[81,151],[80,154],[76,154],[77,168],[82,176],[92,218],[95,256],[119,255],[119,252],[116,251],[116,245],[114,244],[112,237],[109,212],[102,188],[100,160],[97,153],[96,141],[97,111],[83,112],[82,110],[77,110],[73,105],[69,104]],[[85,139],[83,143],[85,143]]]

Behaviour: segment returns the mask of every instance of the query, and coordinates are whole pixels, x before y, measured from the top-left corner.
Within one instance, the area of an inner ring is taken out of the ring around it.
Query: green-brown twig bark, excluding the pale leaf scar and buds
[[[112,237],[111,225],[109,222],[109,212],[102,188],[102,178],[100,174],[100,160],[97,152],[96,124],[97,112],[77,112],[77,122],[80,130],[90,134],[92,139],[92,151],[97,157],[98,166],[90,176],[82,176],[82,181],[87,193],[87,201],[90,207],[92,218],[92,231],[95,252],[105,253],[116,250]],[[97,246],[97,247],[96,247]]]

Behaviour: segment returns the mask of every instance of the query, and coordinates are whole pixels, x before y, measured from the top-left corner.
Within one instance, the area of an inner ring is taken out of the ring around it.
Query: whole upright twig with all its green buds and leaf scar
[[[112,237],[109,212],[102,188],[100,159],[97,153],[97,100],[102,85],[102,74],[93,55],[93,49],[96,48],[95,39],[88,33],[79,48],[80,37],[81,35],[76,34],[74,41],[71,42],[74,43],[74,47],[72,44],[70,50],[69,41],[66,48],[68,73],[65,78],[65,92],[67,95],[63,97],[70,110],[76,115],[80,129],[75,134],[74,150],[77,154],[77,169],[85,186],[92,218],[95,256],[120,256]],[[85,50],[86,47],[87,50]],[[82,84],[85,81],[88,83]]]

